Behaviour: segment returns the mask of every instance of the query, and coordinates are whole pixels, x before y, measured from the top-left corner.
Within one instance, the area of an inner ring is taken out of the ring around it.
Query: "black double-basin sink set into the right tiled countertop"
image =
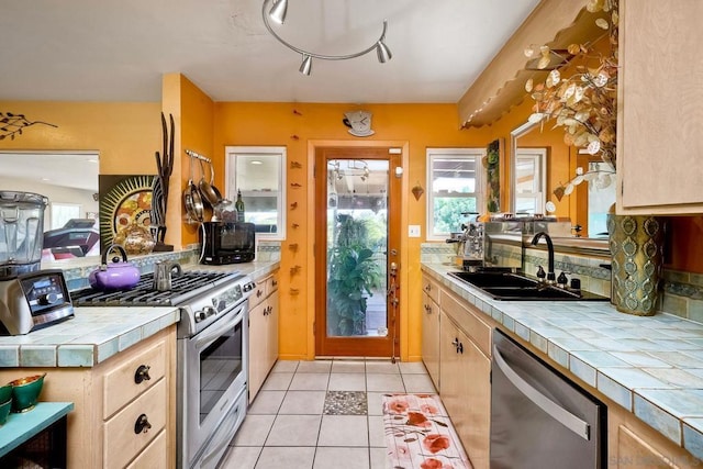
[[[489,294],[494,300],[512,301],[607,301],[606,297],[581,290],[570,290],[555,286],[546,286],[531,278],[510,272],[449,272],[472,287]]]

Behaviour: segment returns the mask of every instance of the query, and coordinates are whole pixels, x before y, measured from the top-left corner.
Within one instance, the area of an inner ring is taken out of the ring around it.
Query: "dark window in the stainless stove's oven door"
[[[200,353],[200,423],[243,372],[242,322]]]

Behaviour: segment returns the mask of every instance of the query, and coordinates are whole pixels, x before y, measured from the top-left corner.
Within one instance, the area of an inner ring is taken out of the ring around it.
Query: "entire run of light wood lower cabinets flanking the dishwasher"
[[[439,299],[439,393],[451,417],[457,434],[476,469],[490,465],[490,413],[491,413],[491,344],[493,327],[499,326],[486,314],[477,312],[466,300],[445,288],[436,287],[433,280],[423,277],[423,286],[433,283],[435,298]],[[431,291],[432,289],[431,288]],[[439,291],[440,290],[440,291]],[[428,291],[423,303],[432,304]],[[423,314],[425,311],[423,310]],[[425,327],[425,323],[423,323]],[[426,333],[429,340],[434,335]],[[534,354],[548,361],[569,379],[582,386],[607,405],[607,468],[700,468],[701,460],[671,442],[659,432],[637,418],[632,412],[610,401],[596,389],[589,387],[568,369],[549,359],[531,344],[521,342]],[[425,358],[423,343],[423,360]],[[429,367],[428,367],[429,369]]]

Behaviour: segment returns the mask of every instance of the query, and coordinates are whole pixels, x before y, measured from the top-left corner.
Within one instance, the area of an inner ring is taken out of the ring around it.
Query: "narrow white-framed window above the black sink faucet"
[[[515,213],[545,213],[546,148],[517,148]]]

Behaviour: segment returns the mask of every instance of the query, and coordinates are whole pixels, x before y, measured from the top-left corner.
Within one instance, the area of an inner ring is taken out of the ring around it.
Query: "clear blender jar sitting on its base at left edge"
[[[0,191],[0,280],[40,269],[47,204],[38,193]]]

